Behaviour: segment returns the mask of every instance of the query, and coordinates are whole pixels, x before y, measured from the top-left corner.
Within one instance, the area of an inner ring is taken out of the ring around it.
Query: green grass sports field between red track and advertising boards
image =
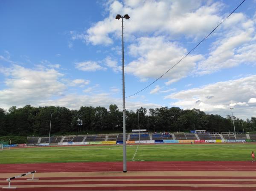
[[[246,161],[255,144],[127,145],[127,161]],[[0,152],[0,164],[122,161],[122,145],[15,148]]]

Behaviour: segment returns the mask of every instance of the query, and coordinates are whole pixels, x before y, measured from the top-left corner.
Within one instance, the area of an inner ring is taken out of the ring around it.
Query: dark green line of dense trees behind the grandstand
[[[48,136],[52,113],[51,135],[122,132],[122,111],[116,104],[109,110],[105,107],[82,106],[79,110],[66,107],[12,106],[9,110],[0,108],[0,136]],[[206,114],[201,110],[183,110],[179,107],[160,107],[149,109],[141,107],[136,112],[126,111],[126,130],[188,132],[189,130],[207,130],[208,132],[233,132],[233,120],[236,132],[256,131],[256,118],[246,121],[227,116]]]

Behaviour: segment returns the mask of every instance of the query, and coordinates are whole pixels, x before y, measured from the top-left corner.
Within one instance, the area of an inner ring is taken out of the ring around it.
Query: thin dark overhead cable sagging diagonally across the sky
[[[241,6],[242,3],[244,3],[245,0],[243,0],[237,7],[236,9],[239,8],[239,6]],[[234,9],[224,20],[221,21],[221,23],[218,24],[218,26],[216,26],[212,32],[214,32],[233,12],[236,11],[236,9]],[[156,81],[158,81],[160,78],[162,78],[167,72],[169,72],[172,68],[174,68],[177,64],[179,64],[184,58],[186,58],[187,55],[189,55],[196,47],[198,47],[209,35],[212,34],[212,32],[210,32],[200,43],[198,43],[192,50],[190,50],[185,56],[183,56],[183,58],[181,58],[176,64],[174,64],[170,69],[168,69],[163,75],[161,75],[159,78],[157,78],[155,81],[153,81],[151,84],[149,84],[148,86],[144,87],[142,90],[132,94],[131,96],[135,96],[136,94],[142,92],[143,90],[145,90],[146,88],[148,88],[149,86],[151,86],[152,84],[154,84]],[[129,98],[131,96],[127,96],[126,98]]]

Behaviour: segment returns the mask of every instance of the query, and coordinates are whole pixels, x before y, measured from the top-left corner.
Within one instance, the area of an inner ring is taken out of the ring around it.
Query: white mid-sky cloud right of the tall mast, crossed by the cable
[[[125,67],[125,71],[138,78],[158,78],[177,63],[186,53],[186,49],[177,43],[166,41],[164,37],[139,38],[136,44],[129,46],[129,53],[138,57]],[[171,69],[163,78],[167,85],[186,77],[195,68],[201,55],[189,55],[180,64]]]

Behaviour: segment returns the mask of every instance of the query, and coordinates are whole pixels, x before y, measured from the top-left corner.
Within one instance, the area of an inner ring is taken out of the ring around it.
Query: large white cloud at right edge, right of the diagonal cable
[[[238,14],[236,14],[238,15]],[[227,19],[232,22],[233,16]],[[245,19],[243,14],[239,14],[240,20],[236,20],[236,25],[230,28],[229,23],[223,24],[227,28],[221,38],[212,44],[212,49],[209,55],[198,64],[196,74],[204,75],[224,68],[236,67],[239,64],[255,64],[256,61],[256,45],[253,37],[256,35],[254,22],[250,19]]]

